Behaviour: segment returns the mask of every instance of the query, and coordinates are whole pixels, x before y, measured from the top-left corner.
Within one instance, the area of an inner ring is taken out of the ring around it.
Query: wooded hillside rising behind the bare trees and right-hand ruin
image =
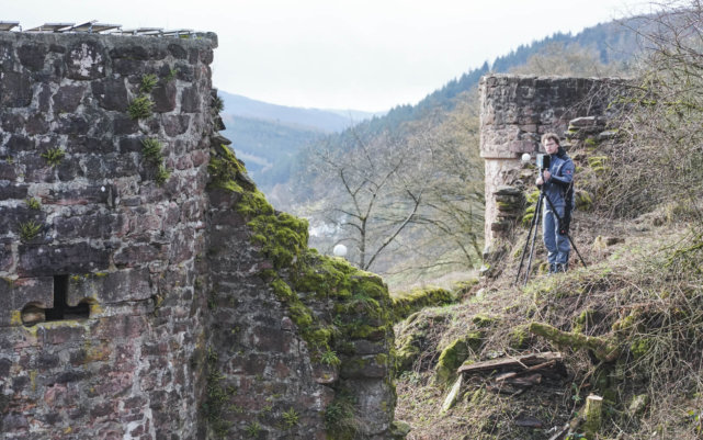
[[[295,159],[291,208],[311,218],[313,246],[330,252],[344,244],[352,261],[384,274],[392,287],[474,268],[483,248],[480,77],[622,75],[637,47],[627,26],[637,23],[600,24],[520,46],[417,105],[396,106],[308,145]]]

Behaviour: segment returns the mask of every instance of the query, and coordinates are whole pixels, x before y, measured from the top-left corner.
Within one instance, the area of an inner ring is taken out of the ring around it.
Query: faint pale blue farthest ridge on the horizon
[[[224,114],[262,120],[322,133],[339,133],[361,121],[384,114],[359,110],[301,109],[270,104],[222,90],[218,91],[218,94],[225,102]]]

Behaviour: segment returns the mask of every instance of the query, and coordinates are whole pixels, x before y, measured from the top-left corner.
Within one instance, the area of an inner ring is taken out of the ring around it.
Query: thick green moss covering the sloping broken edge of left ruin
[[[353,353],[353,341],[358,339],[392,347],[393,343],[385,340],[393,337],[394,315],[383,280],[343,259],[320,256],[308,249],[307,221],[273,210],[229,148],[218,146],[211,153],[208,189],[237,194],[233,208],[246,219],[252,244],[273,264],[273,269],[262,270],[259,275],[285,305],[298,335],[308,345],[313,362],[322,362],[327,359],[325,353],[329,357],[335,352],[348,354],[344,362],[350,365],[364,361]],[[333,300],[329,316],[316,315],[308,305],[311,302],[319,304],[320,298]],[[395,364],[393,352],[377,354],[374,359],[379,364]],[[393,370],[389,369],[389,381]],[[336,383],[333,387],[338,385]],[[353,403],[353,392],[338,392],[335,402],[327,407],[328,438],[354,438],[356,430],[349,424],[356,416],[349,413],[349,403]]]

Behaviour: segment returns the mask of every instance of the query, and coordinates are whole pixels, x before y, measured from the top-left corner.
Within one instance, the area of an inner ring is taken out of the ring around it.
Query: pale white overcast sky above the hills
[[[213,81],[276,104],[415,104],[485,60],[622,18],[636,0],[0,0],[24,29],[89,20],[213,31]]]

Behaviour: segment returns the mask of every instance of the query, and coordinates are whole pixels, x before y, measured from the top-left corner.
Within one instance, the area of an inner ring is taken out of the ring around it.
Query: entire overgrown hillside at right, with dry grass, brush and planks
[[[396,325],[408,439],[703,436],[702,18],[695,2],[647,18],[645,63],[613,102],[616,138],[569,150],[588,267],[571,252],[571,270],[548,275],[538,245],[515,283],[519,223],[491,277]]]

